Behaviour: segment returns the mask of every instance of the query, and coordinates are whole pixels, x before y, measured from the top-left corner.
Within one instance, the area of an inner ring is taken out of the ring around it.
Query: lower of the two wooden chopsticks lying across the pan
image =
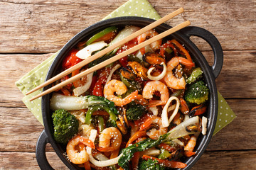
[[[131,54],[132,52],[136,52],[137,50],[141,49],[142,47],[144,47],[146,45],[149,45],[152,42],[155,42],[156,40],[164,38],[167,35],[170,35],[171,33],[174,33],[177,30],[185,28],[186,26],[189,26],[189,25],[190,25],[190,21],[186,21],[186,22],[183,22],[183,23],[179,24],[178,26],[175,26],[174,28],[166,30],[166,31],[164,31],[164,33],[156,35],[153,38],[150,38],[149,40],[146,40],[146,41],[142,42],[141,44],[136,45],[136,46],[130,48],[129,50],[126,50],[126,51],[120,53],[119,55],[116,55],[116,56],[110,58],[109,60],[106,60],[105,62],[101,62],[100,64],[97,64],[94,67],[91,67],[90,69],[86,69],[84,72],[80,72],[79,74],[75,75],[74,77],[71,77],[70,79],[67,79],[67,80],[63,81],[60,84],[57,84],[57,85],[51,87],[50,89],[47,89],[46,91],[43,91],[41,94],[38,94],[37,96],[34,96],[29,101],[33,101],[36,98],[39,98],[39,97],[44,96],[46,94],[50,94],[51,92],[53,92],[57,89],[60,89],[61,87],[65,86],[67,84],[70,84],[70,83],[72,83],[73,81],[75,81],[77,79],[80,79],[80,78],[84,77],[86,74],[90,74],[91,72],[95,72],[98,69],[101,69],[102,67],[105,67],[108,64],[111,64],[112,62],[115,62],[115,61],[121,59],[122,57]]]

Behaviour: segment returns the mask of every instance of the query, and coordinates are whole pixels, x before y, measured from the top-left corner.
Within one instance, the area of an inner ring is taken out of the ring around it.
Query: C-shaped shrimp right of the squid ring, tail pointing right
[[[185,89],[186,81],[184,77],[181,77],[181,79],[178,79],[173,74],[174,67],[178,66],[178,64],[184,64],[186,66],[194,66],[195,64],[183,57],[173,57],[168,63],[167,63],[167,72],[164,76],[164,81],[166,82],[167,86],[171,87],[172,89]]]

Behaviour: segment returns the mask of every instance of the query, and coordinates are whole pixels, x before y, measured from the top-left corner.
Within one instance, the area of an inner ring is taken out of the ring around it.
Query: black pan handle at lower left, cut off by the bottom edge
[[[41,169],[54,170],[46,158],[46,144],[48,143],[48,136],[46,135],[45,130],[43,130],[36,143],[36,160]]]

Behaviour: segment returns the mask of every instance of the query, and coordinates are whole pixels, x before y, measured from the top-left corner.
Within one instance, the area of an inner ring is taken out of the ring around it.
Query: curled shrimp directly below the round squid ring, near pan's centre
[[[155,91],[160,92],[161,101],[159,100],[149,101],[149,107],[165,105],[169,99],[169,91],[167,86],[161,81],[155,80],[155,81],[147,82],[142,91],[142,96],[143,98],[146,98],[146,99],[153,98],[153,94]]]

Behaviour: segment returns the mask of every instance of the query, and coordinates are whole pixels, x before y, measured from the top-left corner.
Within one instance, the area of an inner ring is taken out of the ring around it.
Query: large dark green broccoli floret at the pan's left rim
[[[59,143],[67,143],[75,134],[78,133],[78,120],[75,115],[68,111],[59,109],[52,115],[54,126],[54,139]]]

